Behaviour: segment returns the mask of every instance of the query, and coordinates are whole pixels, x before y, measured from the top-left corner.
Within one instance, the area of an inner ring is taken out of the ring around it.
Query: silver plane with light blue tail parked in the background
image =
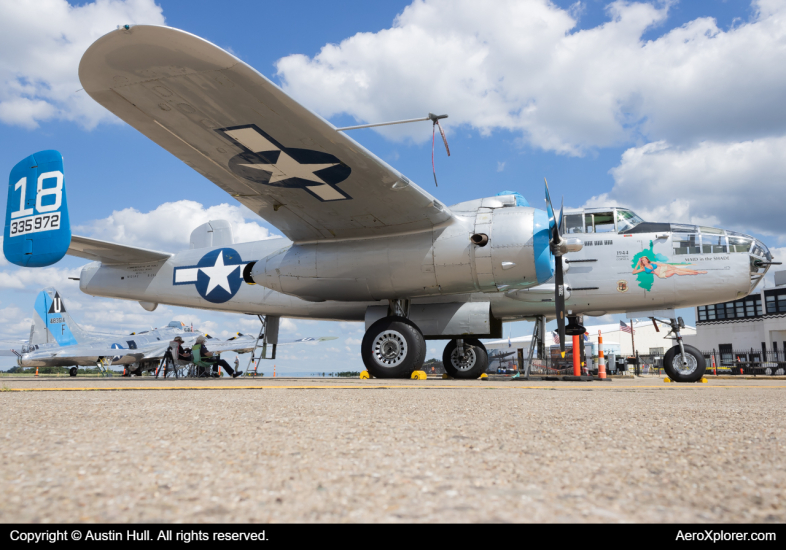
[[[46,288],[38,293],[33,311],[30,339],[21,345],[0,350],[0,355],[14,355],[20,367],[71,367],[71,376],[78,366],[123,365],[131,374],[155,370],[175,336],[188,346],[201,331],[190,330],[182,321],[172,321],[164,328],[156,328],[130,335],[91,332],[80,327],[66,309],[60,293]],[[209,335],[205,335],[210,338]],[[300,338],[278,344],[297,344],[334,340],[336,337]],[[257,340],[239,335],[229,340],[210,339],[214,353],[234,351],[248,353],[255,349]]]

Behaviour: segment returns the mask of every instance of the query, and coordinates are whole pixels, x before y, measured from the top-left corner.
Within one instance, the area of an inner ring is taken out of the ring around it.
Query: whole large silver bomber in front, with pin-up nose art
[[[578,315],[636,312],[668,319],[679,335],[675,308],[745,296],[772,263],[763,243],[723,229],[647,223],[615,207],[563,216],[548,188],[545,211],[514,192],[446,206],[180,30],[110,32],[85,52],[79,77],[98,103],[287,238],[235,244],[226,224],[209,223],[177,254],[72,238],[62,161],[42,152],[12,171],[6,257],[31,267],[66,253],[97,260],[82,269],[83,292],[148,310],[365,320],[362,357],[377,377],[408,376],[426,339],[448,339],[445,368],[475,378],[488,364],[478,338],[500,338],[502,323],[518,319],[556,317],[563,349],[566,333],[584,332]],[[669,353],[673,379],[703,374],[698,350],[678,340]]]

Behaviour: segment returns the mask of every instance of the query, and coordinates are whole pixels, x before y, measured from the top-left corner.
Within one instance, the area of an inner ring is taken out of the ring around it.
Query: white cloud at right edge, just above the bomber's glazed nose
[[[778,200],[786,184],[784,150],[786,137],[633,147],[611,170],[614,188],[587,206],[618,204],[648,221],[691,222],[786,239]]]

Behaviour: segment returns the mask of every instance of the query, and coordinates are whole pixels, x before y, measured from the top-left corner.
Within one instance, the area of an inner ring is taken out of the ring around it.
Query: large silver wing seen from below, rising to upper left
[[[192,34],[150,25],[112,31],[82,56],[79,79],[90,97],[295,242],[426,231],[452,217],[256,70]]]

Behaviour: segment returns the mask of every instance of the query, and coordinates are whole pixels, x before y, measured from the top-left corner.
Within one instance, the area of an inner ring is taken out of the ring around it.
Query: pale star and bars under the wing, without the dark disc
[[[299,178],[306,181],[313,181],[319,185],[309,185],[306,188],[325,201],[341,200],[344,197],[341,193],[325,183],[323,179],[314,172],[318,172],[339,163],[331,164],[301,164],[284,151],[273,145],[265,136],[257,132],[254,128],[240,128],[238,130],[227,130],[226,134],[240,142],[246,149],[254,153],[269,153],[279,151],[278,161],[275,164],[241,164],[247,168],[270,172],[270,183]]]

